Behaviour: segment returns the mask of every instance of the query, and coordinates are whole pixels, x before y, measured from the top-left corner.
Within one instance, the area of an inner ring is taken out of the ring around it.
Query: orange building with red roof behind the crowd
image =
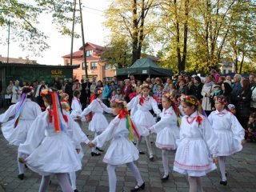
[[[101,58],[101,54],[104,51],[104,47],[95,45],[90,42],[86,42],[86,62],[88,78],[97,77],[97,80],[111,80],[115,75],[115,69],[112,69],[107,64],[106,60]],[[74,78],[81,80],[86,77],[85,65],[83,62],[83,53],[81,47],[78,51],[73,53],[72,63],[73,65],[79,64],[80,67],[73,71]],[[62,56],[64,58],[64,65],[70,65],[70,54]]]

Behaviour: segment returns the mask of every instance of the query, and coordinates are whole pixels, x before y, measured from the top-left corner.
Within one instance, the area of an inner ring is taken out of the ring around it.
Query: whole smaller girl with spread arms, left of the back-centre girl
[[[91,96],[94,100],[90,103],[89,106],[86,107],[80,114],[82,117],[82,121],[85,121],[86,114],[92,112],[92,119],[89,123],[89,130],[95,132],[95,137],[99,134],[102,134],[103,130],[106,130],[106,127],[109,123],[106,120],[106,117],[103,115],[103,111],[106,113],[111,114],[111,108],[107,107],[101,100],[102,98],[102,88],[98,88],[95,90],[95,93]],[[91,156],[98,156],[101,155],[100,153],[96,152],[96,150],[103,151],[98,147],[94,147],[91,151]]]

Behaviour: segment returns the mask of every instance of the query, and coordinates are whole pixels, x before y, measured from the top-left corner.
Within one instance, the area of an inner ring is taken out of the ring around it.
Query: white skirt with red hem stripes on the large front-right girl
[[[201,177],[216,168],[202,138],[184,138],[179,142],[174,160],[174,171]]]

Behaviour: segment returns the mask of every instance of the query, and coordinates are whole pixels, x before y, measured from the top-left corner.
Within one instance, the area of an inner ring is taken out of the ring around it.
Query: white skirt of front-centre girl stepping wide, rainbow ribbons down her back
[[[106,151],[103,162],[110,165],[122,165],[127,162],[134,162],[138,160],[138,150],[129,138],[113,138],[110,142],[110,147]]]

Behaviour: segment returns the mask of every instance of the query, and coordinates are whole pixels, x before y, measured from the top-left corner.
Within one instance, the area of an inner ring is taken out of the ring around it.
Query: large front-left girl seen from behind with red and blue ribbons
[[[85,139],[78,124],[62,111],[57,92],[45,89],[41,94],[47,108],[34,120],[26,142],[19,146],[19,161],[42,175],[39,192],[46,191],[53,174],[62,191],[70,192],[67,174],[81,170],[79,148],[75,146]]]

